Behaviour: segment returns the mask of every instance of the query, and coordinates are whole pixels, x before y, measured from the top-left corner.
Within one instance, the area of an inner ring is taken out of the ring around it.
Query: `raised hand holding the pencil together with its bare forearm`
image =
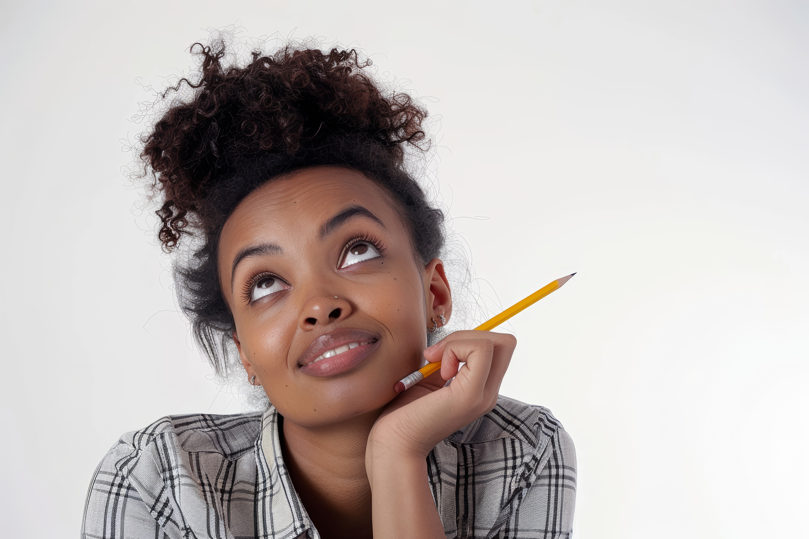
[[[446,537],[426,457],[441,440],[493,409],[516,346],[512,335],[455,331],[424,351],[428,361],[442,361],[441,370],[394,398],[368,436],[374,537]]]

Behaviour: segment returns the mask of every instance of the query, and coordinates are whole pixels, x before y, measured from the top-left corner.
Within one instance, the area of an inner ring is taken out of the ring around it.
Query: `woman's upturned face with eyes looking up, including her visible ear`
[[[307,427],[394,398],[421,366],[427,320],[451,310],[440,261],[417,262],[387,194],[341,167],[252,192],[222,229],[218,268],[248,375]]]

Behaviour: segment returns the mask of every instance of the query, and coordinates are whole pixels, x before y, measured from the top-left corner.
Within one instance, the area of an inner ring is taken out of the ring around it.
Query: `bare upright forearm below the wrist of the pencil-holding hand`
[[[426,459],[375,459],[369,472],[374,537],[447,537],[430,492]]]

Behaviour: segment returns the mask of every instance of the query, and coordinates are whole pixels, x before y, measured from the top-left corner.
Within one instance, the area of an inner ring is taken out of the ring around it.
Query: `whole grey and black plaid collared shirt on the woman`
[[[295,494],[279,415],[172,415],[129,432],[95,470],[82,538],[319,539]],[[427,457],[447,537],[567,538],[576,457],[542,406],[501,397]]]

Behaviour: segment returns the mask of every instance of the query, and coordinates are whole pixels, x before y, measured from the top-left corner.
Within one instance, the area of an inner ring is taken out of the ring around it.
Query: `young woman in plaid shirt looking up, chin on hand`
[[[405,159],[426,112],[354,51],[193,50],[143,137],[159,239],[217,373],[272,404],[122,436],[83,537],[569,537],[570,437],[498,396],[515,338],[426,347],[452,314],[443,215]],[[424,359],[440,372],[396,394]]]

